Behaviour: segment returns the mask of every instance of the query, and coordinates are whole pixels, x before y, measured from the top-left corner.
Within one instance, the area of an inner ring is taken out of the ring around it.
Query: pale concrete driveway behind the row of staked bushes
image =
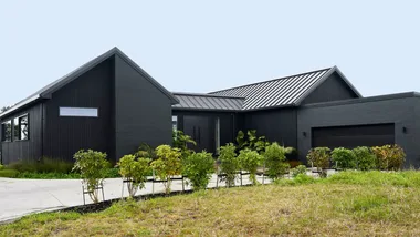
[[[261,182],[261,178],[259,178]],[[265,179],[265,183],[267,181]],[[243,184],[249,184],[243,176]],[[240,185],[239,181],[237,185]],[[220,183],[219,186],[224,186]],[[104,183],[105,199],[122,197],[122,178],[107,178]],[[216,175],[209,187],[216,187]],[[126,186],[125,186],[126,188]],[[174,181],[172,190],[182,190],[182,182]],[[186,189],[190,189],[186,185]],[[137,195],[151,194],[153,184],[146,183],[146,188]],[[155,193],[164,192],[161,183],[155,184]],[[128,192],[124,190],[125,196]],[[86,203],[92,203],[86,196]],[[14,179],[0,178],[0,223],[11,221],[22,216],[55,210],[71,206],[83,205],[82,185],[80,179]]]

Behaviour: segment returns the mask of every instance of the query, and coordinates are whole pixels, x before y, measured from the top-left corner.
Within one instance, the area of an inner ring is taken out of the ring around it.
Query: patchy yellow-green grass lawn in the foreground
[[[51,213],[0,236],[420,236],[420,173],[342,173]]]

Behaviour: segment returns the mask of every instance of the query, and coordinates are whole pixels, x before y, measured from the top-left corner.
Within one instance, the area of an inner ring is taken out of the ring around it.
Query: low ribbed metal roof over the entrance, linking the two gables
[[[223,96],[199,93],[172,92],[179,100],[179,104],[172,109],[179,110],[200,110],[200,111],[240,111],[244,97]]]

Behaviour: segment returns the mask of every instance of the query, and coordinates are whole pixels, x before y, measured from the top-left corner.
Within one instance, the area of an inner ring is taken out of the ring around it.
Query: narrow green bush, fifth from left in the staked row
[[[222,177],[221,181],[225,179],[228,187],[234,186],[237,172],[240,169],[235,150],[237,147],[232,143],[229,143],[225,146],[220,146],[220,172],[225,174],[225,177]]]

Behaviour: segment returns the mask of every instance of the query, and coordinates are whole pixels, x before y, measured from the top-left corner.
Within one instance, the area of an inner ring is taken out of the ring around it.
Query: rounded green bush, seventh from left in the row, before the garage
[[[265,147],[264,158],[265,167],[270,178],[277,179],[283,177],[290,164],[286,163],[286,148],[280,146],[277,143],[272,143]]]

